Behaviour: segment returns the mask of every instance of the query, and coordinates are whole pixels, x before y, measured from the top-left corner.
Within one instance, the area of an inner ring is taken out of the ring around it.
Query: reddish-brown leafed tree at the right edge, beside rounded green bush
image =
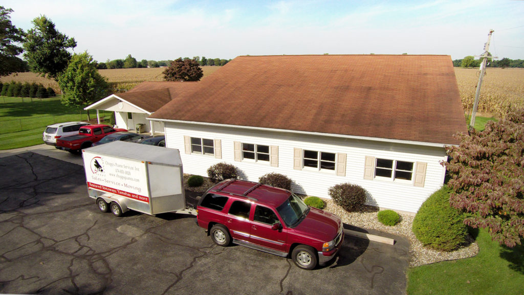
[[[447,148],[451,160],[443,164],[450,204],[471,214],[464,223],[514,247],[524,238],[524,109],[507,116],[457,135],[460,145]]]

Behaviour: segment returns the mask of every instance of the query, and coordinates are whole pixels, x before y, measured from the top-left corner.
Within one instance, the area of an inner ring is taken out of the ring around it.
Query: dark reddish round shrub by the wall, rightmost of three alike
[[[350,212],[361,209],[366,202],[366,190],[356,184],[336,184],[329,188],[328,193],[335,204]]]

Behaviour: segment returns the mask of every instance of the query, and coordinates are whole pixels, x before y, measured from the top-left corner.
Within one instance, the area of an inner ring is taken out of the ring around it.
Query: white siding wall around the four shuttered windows
[[[222,159],[215,159],[214,156],[181,153],[184,172],[190,174],[207,176],[206,171],[211,165],[227,162],[237,166],[241,170],[241,178],[245,180],[258,181],[258,178],[266,173],[281,173],[293,180],[293,191],[325,198],[329,198],[330,186],[349,182],[361,185],[367,190],[367,204],[408,212],[417,212],[425,199],[440,188],[444,179],[444,168],[439,164],[440,161],[446,160],[443,148],[172,122],[166,122],[165,127],[168,148],[180,151],[184,151],[184,135],[221,140]],[[235,141],[278,146],[278,167],[270,166],[269,162],[235,161]],[[294,170],[293,151],[295,148],[345,153],[347,155],[345,176],[337,176],[335,171],[311,171],[307,167],[303,167],[302,170]],[[416,187],[412,183],[396,183],[377,179],[364,180],[366,156],[427,163],[424,186]]]

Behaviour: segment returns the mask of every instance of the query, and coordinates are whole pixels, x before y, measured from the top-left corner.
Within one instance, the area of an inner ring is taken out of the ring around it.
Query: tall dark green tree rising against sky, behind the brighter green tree
[[[54,28],[45,15],[35,17],[34,27],[25,34],[24,58],[31,71],[58,80],[58,75],[71,59],[68,48],[77,47],[77,41]]]

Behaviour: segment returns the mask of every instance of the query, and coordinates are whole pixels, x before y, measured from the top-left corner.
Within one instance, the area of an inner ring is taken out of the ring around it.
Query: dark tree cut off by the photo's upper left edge
[[[20,71],[22,60],[16,57],[23,48],[15,45],[24,41],[24,31],[16,28],[11,23],[11,8],[0,6],[0,76],[7,76],[10,73]]]

